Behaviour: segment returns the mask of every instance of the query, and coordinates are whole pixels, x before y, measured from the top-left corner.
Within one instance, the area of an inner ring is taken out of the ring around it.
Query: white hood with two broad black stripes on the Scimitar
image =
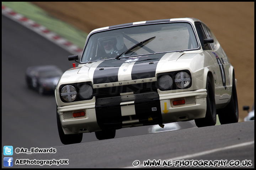
[[[158,73],[188,69],[198,53],[170,52],[104,60],[67,70],[59,83],[93,84],[153,78]]]

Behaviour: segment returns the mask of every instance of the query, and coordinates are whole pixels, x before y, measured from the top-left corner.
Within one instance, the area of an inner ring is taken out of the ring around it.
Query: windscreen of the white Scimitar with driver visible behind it
[[[153,39],[139,44],[150,38]],[[106,46],[110,45],[112,47],[106,49]],[[128,49],[135,45],[138,46],[127,52]],[[102,56],[111,51],[115,51],[116,53],[110,58],[115,58],[123,52],[126,53],[123,53],[121,57],[159,52],[197,50],[198,48],[198,41],[191,23],[145,24],[91,34],[86,42],[81,62],[106,59]]]

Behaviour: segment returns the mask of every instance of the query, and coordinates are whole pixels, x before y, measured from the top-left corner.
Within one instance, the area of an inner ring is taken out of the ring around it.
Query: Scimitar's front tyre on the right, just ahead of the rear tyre
[[[217,112],[216,112],[216,104],[215,104],[215,94],[213,89],[214,88],[213,88],[212,81],[210,77],[207,76],[206,117],[194,120],[197,127],[213,126],[216,124]]]

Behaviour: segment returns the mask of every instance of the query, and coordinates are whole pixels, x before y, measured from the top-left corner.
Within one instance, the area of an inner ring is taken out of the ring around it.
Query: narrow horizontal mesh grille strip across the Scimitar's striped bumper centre
[[[129,101],[148,101],[155,98],[159,98],[159,95],[157,92],[114,96],[114,97],[104,97],[104,98],[98,98],[96,100],[96,105],[106,106],[111,104],[120,104],[121,102],[129,102]]]

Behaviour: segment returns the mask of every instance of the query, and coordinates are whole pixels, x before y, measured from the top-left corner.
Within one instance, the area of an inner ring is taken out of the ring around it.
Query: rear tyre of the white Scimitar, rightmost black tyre
[[[235,73],[233,72],[232,94],[229,104],[223,109],[217,109],[220,124],[237,123],[239,119],[238,98],[235,86]]]

